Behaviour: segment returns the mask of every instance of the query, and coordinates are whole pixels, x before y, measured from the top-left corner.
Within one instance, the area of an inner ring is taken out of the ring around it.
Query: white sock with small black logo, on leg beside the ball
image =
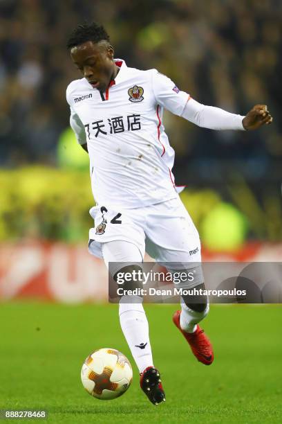
[[[139,303],[132,303],[133,301]],[[120,325],[139,372],[142,373],[147,366],[153,366],[153,357],[149,325],[140,301],[142,299],[137,296],[123,296],[120,299]]]

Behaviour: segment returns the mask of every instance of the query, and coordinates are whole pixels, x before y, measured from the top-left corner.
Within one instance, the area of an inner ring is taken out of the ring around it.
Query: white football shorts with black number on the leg
[[[179,196],[136,209],[94,206],[90,214],[95,227],[89,231],[88,250],[99,258],[103,243],[123,240],[138,247],[142,260],[147,251],[158,263],[173,263],[175,270],[201,261],[198,231]],[[120,261],[118,252],[112,261]]]

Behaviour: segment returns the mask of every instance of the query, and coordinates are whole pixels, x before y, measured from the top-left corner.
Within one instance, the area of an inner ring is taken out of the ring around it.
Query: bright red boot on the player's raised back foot
[[[212,364],[214,360],[214,352],[212,350],[212,344],[209,342],[209,339],[205,335],[204,330],[202,330],[198,324],[194,333],[187,333],[186,331],[182,330],[180,327],[180,313],[180,310],[174,312],[172,318],[174,324],[176,324],[176,327],[179,328],[182,335],[184,335],[185,339],[191,347],[191,351],[194,353],[198,361],[205,365]]]

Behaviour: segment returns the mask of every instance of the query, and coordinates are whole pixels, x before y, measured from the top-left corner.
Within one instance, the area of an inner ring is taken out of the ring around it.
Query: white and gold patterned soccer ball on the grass
[[[120,351],[103,348],[86,357],[81,377],[84,389],[94,398],[115,399],[131,385],[132,368]]]

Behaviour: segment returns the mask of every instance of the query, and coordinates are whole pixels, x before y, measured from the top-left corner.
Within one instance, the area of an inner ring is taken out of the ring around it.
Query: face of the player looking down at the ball
[[[113,47],[106,42],[91,41],[71,49],[73,63],[93,88],[105,91],[109,86],[115,69]]]

